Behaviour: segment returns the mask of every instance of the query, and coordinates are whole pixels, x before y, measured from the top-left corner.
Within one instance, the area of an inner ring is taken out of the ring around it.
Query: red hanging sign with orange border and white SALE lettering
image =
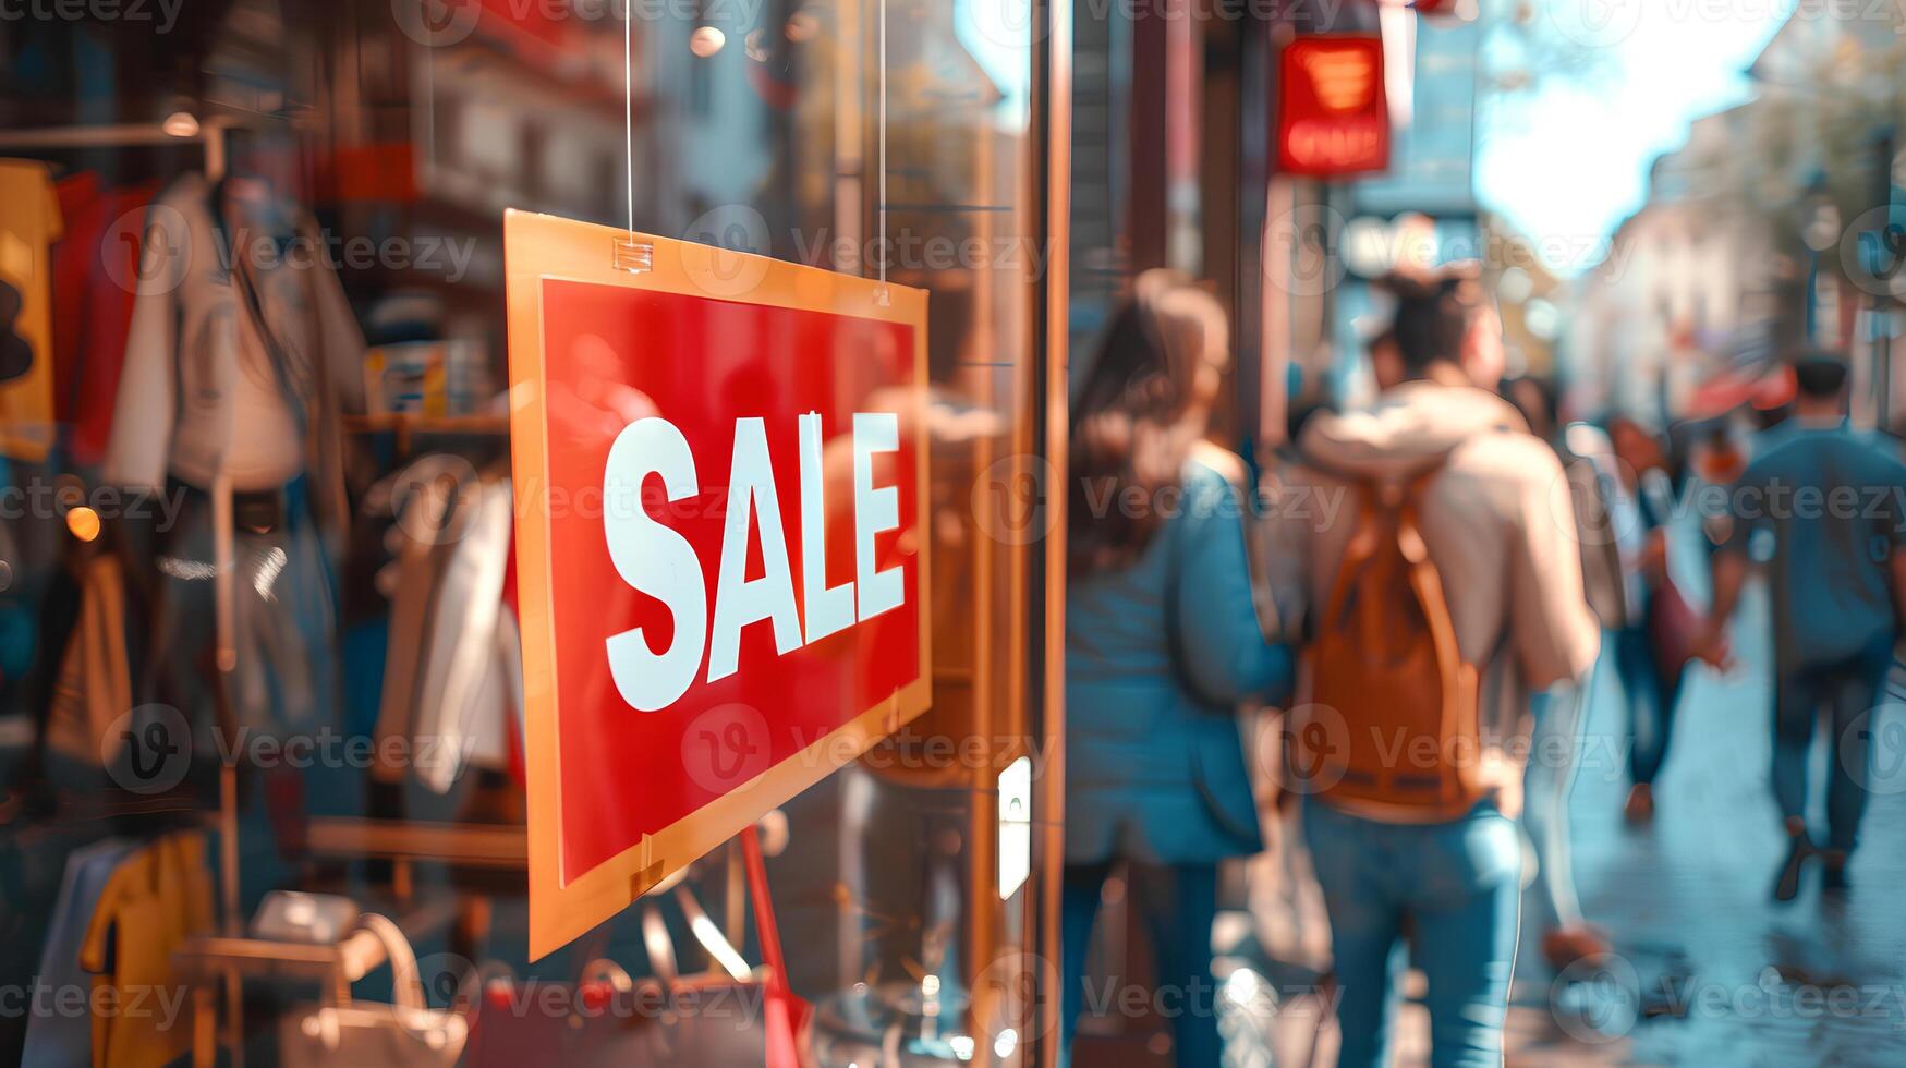
[[[928,702],[924,294],[627,240],[505,219],[534,955]]]

